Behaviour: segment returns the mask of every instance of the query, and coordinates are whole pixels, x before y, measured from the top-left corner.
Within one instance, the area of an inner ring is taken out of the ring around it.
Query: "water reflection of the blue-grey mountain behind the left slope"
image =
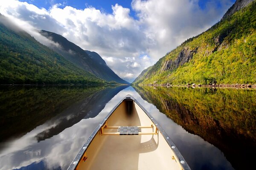
[[[80,102],[71,105],[55,118],[49,120],[50,125],[55,125],[43,132],[39,133],[36,138],[38,141],[48,139],[58,133],[61,133],[67,127],[71,127],[81,121],[81,119],[93,118],[99,114],[105,105],[119,91],[128,86],[118,86],[116,88],[107,87],[102,91],[98,91],[92,96],[88,96]]]

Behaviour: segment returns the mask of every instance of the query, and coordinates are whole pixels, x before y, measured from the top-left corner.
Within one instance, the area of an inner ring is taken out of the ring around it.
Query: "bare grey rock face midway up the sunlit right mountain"
[[[185,64],[186,62],[189,62],[190,59],[192,59],[194,53],[197,52],[197,48],[195,50],[189,50],[189,48],[183,48],[182,51],[178,54],[177,58],[172,60],[167,60],[162,67],[162,71],[167,70],[174,70],[175,68],[178,68],[179,66]]]

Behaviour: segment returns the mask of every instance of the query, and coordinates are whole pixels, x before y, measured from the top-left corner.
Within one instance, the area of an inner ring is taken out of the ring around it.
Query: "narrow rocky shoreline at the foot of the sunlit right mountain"
[[[250,84],[235,84],[235,85],[230,85],[230,84],[212,84],[212,85],[201,85],[198,84],[196,85],[193,83],[192,85],[187,84],[187,85],[171,85],[169,83],[167,84],[142,84],[143,86],[163,86],[163,87],[187,87],[187,88],[241,88],[241,89],[256,89],[256,84],[250,85]]]

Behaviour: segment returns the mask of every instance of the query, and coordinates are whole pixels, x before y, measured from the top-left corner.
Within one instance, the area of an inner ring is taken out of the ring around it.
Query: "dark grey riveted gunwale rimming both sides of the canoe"
[[[88,146],[90,143],[93,141],[95,138],[96,134],[99,132],[101,127],[106,123],[108,118],[111,116],[111,114],[116,110],[116,108],[124,101],[124,100],[132,100],[134,101],[140,108],[146,113],[146,115],[151,119],[151,121],[154,123],[154,125],[157,127],[158,133],[160,132],[166,142],[169,144],[169,146],[172,148],[172,151],[175,153],[177,158],[179,159],[178,161],[180,162],[180,165],[183,167],[183,170],[191,170],[189,165],[186,163],[185,159],[181,155],[180,151],[177,149],[175,144],[172,142],[170,137],[167,135],[167,133],[163,130],[163,128],[157,123],[157,121],[151,116],[150,113],[142,106],[140,103],[131,95],[125,96],[123,99],[121,99],[116,106],[108,113],[108,115],[102,120],[102,122],[99,123],[99,125],[95,128],[93,133],[90,135],[90,137],[87,139],[87,141],[84,143],[84,145],[81,147],[79,150],[79,153],[76,155],[75,159],[71,162],[70,166],[67,168],[67,170],[75,170],[77,165],[79,164],[79,161],[81,161],[84,153],[86,152]]]

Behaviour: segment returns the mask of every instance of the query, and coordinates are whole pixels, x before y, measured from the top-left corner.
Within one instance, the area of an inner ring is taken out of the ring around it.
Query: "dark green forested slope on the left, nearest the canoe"
[[[0,15],[0,84],[102,84]]]

